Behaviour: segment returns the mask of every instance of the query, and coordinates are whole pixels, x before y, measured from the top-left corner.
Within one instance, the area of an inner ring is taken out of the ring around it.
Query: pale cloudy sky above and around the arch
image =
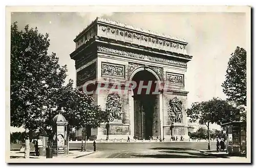
[[[37,26],[42,34],[49,33],[49,52],[56,53],[60,65],[67,65],[66,81],[69,78],[75,81],[75,62],[69,56],[75,50],[73,40],[97,16],[184,38],[188,42],[187,53],[193,55],[185,74],[188,107],[213,97],[227,98],[221,84],[230,54],[237,46],[246,48],[245,13],[15,12],[11,14],[11,22],[17,21],[20,29],[29,24]]]

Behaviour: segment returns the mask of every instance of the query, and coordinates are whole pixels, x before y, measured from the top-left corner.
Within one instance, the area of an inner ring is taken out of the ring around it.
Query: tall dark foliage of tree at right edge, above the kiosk
[[[236,102],[237,105],[246,106],[246,51],[244,48],[237,47],[231,53],[225,76],[222,87],[228,100]]]

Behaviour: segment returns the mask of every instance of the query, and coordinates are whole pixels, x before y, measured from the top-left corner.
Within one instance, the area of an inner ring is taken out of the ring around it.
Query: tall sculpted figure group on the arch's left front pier
[[[109,121],[122,121],[122,103],[117,93],[111,93],[106,99],[105,111],[109,113]]]

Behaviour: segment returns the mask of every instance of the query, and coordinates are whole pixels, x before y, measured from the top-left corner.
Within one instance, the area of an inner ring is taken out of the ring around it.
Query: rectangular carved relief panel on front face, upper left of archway
[[[124,65],[101,63],[102,64],[102,76],[106,77],[124,77]]]

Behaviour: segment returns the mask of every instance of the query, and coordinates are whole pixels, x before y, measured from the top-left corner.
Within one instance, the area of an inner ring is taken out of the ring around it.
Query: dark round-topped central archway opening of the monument
[[[137,72],[132,80],[137,83],[133,89],[134,136],[138,139],[156,138],[160,131],[158,80],[147,70]]]

